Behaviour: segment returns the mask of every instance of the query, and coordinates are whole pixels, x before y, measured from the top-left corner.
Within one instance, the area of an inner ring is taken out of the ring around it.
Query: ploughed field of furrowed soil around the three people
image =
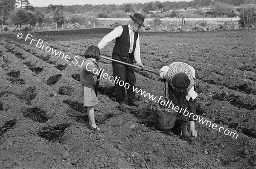
[[[0,36],[0,168],[256,167],[254,29],[140,32],[145,68],[159,70],[176,61],[195,68],[197,113],[209,120],[207,126],[196,123],[196,140],[181,138],[175,129],[159,130],[148,97],[137,94],[142,105],[121,109],[108,78],[100,81],[95,108],[96,123],[106,132],[87,129],[79,66],[87,47],[110,31],[31,32],[26,42],[26,32],[21,39]],[[101,54],[111,57],[113,45]],[[102,60],[99,67],[112,75],[111,61]],[[136,86],[164,97],[160,77],[135,72]],[[210,122],[237,138],[212,129]]]

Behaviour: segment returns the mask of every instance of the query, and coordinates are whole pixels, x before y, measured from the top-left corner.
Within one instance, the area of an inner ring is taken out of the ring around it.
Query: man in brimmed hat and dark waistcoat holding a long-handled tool
[[[140,59],[140,36],[138,31],[141,26],[145,27],[144,17],[139,13],[135,13],[131,16],[131,22],[128,25],[118,26],[112,32],[107,34],[99,42],[99,49],[103,49],[109,42],[116,39],[115,46],[113,48],[112,58],[125,63],[137,63],[143,69],[143,64]],[[135,92],[133,92],[133,86],[136,81],[134,68],[132,66],[126,66],[120,63],[112,62],[114,77],[120,77],[120,80],[125,83],[129,83],[130,87],[126,89],[128,95],[128,102],[131,106],[139,106],[141,102],[135,99]],[[125,104],[125,88],[119,86],[116,87],[116,102],[120,104],[122,108],[131,108]]]

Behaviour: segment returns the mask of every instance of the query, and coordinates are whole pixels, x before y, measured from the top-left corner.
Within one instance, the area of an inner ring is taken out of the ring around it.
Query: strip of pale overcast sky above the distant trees
[[[92,5],[99,5],[99,4],[123,4],[123,3],[146,3],[151,2],[153,0],[29,0],[29,3],[32,6],[49,6],[52,5],[84,5],[84,4],[92,4]],[[154,0],[155,1],[155,0]],[[153,2],[154,2],[153,1]],[[192,0],[157,0],[159,2],[178,2],[178,1],[192,1]]]

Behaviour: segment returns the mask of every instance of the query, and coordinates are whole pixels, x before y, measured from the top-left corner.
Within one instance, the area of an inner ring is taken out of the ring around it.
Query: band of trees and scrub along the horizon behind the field
[[[133,13],[140,11],[144,14],[151,14],[152,11],[167,12],[177,9],[189,9],[189,8],[203,8],[203,7],[216,7],[223,8],[226,6],[240,6],[244,3],[255,3],[255,0],[192,0],[189,2],[159,2],[154,1],[150,3],[124,3],[122,5],[49,5],[47,7],[34,7],[28,0],[0,0],[0,24],[3,25],[15,25],[21,26],[22,24],[29,24],[31,26],[42,26],[43,23],[49,25],[55,22],[57,26],[61,26],[64,22],[75,22],[77,20],[84,20],[84,18],[72,17],[74,14],[85,14],[89,12],[89,15],[96,15],[93,19],[96,20],[100,17],[127,17],[127,13]],[[228,10],[229,8],[227,8]],[[218,11],[218,14],[223,14],[223,10]],[[90,13],[93,12],[93,13]],[[226,11],[227,12],[227,11]],[[70,17],[64,17],[64,13],[70,14]],[[254,16],[255,11],[250,9],[250,12],[243,11],[245,14],[252,14]],[[217,14],[217,12],[216,12]],[[149,15],[150,16],[150,15]],[[151,15],[152,16],[152,15]],[[154,16],[153,16],[154,17]],[[171,16],[173,17],[173,16]],[[91,19],[91,18],[90,18]],[[250,19],[244,19],[245,23],[253,22],[254,17]],[[84,22],[83,22],[84,24]],[[250,24],[250,23],[249,23]],[[16,29],[17,29],[16,27]],[[16,30],[15,29],[15,30]]]

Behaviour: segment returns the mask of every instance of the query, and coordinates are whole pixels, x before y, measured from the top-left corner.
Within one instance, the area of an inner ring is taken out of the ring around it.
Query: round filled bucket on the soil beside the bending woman
[[[156,118],[159,128],[162,130],[172,129],[177,120],[178,112],[153,110],[152,105],[150,106],[150,109],[151,109],[151,112],[153,113],[154,117]]]

